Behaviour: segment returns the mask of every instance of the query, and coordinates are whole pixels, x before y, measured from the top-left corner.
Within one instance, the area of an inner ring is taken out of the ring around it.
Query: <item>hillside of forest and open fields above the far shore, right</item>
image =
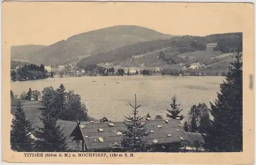
[[[207,47],[217,43],[216,47]],[[240,47],[242,51],[242,33],[216,34],[205,37],[182,36],[170,39],[139,42],[84,58],[77,64],[86,67],[100,63],[112,66],[161,66],[164,64],[192,64],[196,62],[213,64],[228,60],[231,56],[215,58],[224,53],[233,52]],[[163,63],[165,62],[165,63]],[[129,64],[127,64],[129,63]]]

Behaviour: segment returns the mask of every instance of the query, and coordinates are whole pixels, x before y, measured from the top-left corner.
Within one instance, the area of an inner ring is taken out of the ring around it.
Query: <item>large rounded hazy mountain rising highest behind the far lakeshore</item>
[[[125,45],[142,41],[169,39],[170,37],[173,36],[141,26],[118,25],[81,33],[49,46],[41,46],[41,48],[38,47],[38,49],[31,48],[30,51],[18,50],[19,47],[23,48],[24,46],[12,47],[11,57],[12,59],[29,60],[30,63],[38,65],[61,65],[78,62],[80,59],[94,56],[101,52],[114,50]],[[32,45],[27,46],[32,47]],[[13,49],[15,51],[13,51]]]

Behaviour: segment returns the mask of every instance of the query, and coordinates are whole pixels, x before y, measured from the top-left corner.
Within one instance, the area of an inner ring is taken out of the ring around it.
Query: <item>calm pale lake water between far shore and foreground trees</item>
[[[67,90],[81,95],[91,117],[106,117],[112,121],[123,121],[130,115],[137,95],[141,116],[150,113],[154,118],[166,118],[166,108],[170,108],[170,98],[175,94],[187,115],[193,104],[214,101],[219,92],[223,76],[168,77],[168,76],[86,76],[47,78],[31,81],[11,82],[14,94],[32,90],[42,91],[45,87],[57,88],[61,83]],[[96,82],[93,82],[96,80]],[[120,81],[120,84],[116,84]],[[105,84],[105,85],[104,85]]]

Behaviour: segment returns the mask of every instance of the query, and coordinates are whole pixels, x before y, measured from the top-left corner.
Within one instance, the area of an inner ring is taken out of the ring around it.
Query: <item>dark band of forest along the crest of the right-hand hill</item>
[[[153,40],[153,41],[139,42],[132,45],[125,45],[108,52],[100,52],[98,54],[94,54],[94,56],[81,59],[78,62],[77,67],[82,68],[88,65],[96,65],[103,62],[123,62],[127,59],[131,59],[134,56],[139,56],[141,54],[154,52],[154,51],[158,51],[158,50],[161,50],[164,48],[170,48],[170,47],[178,48],[178,52],[180,54],[185,52],[193,52],[196,50],[205,50],[207,43],[217,42],[219,45],[223,45],[222,40],[225,40],[226,42],[231,43],[231,45],[228,46],[229,47],[228,49],[235,49],[237,46],[237,43],[239,44],[242,43],[242,34],[240,33],[220,34],[220,35],[209,35],[206,37],[182,36],[182,37],[172,37],[171,39],[166,39],[166,40]],[[217,45],[218,50],[221,47],[219,45]],[[225,52],[225,49],[221,49],[221,51]],[[176,59],[176,61],[177,60],[178,59]],[[182,59],[179,59],[179,60],[182,60]],[[166,58],[164,59],[164,61],[167,62],[167,61],[170,61],[170,59]]]

